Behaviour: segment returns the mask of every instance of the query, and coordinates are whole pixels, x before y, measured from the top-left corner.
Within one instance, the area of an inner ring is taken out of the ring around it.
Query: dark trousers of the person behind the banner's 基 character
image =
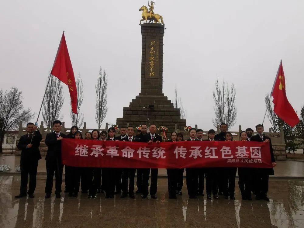
[[[253,175],[251,168],[238,167],[239,188],[242,196],[251,197],[251,176]]]

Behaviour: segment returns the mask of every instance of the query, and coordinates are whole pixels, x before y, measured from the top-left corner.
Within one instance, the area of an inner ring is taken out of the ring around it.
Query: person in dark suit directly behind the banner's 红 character
[[[215,131],[213,129],[210,129],[208,131],[208,139],[204,141],[215,141]],[[206,168],[206,193],[207,193],[207,199],[212,199],[211,193],[213,194],[213,199],[219,199],[218,189],[218,173],[219,168],[218,167],[208,167]]]

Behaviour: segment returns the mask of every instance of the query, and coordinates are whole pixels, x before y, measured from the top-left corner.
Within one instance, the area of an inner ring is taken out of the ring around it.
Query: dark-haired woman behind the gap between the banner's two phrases
[[[177,133],[171,132],[171,139],[168,142],[176,142]],[[168,175],[168,192],[169,192],[169,199],[177,199],[176,192],[177,192],[177,183],[178,183],[178,171],[179,169],[167,169]]]

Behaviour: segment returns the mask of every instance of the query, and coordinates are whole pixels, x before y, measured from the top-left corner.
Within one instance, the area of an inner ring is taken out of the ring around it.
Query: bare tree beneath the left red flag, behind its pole
[[[55,120],[62,120],[63,116],[60,115],[64,97],[62,83],[53,75],[49,73],[50,82],[43,101],[42,117],[44,123],[51,127]],[[47,78],[49,80],[49,78]]]

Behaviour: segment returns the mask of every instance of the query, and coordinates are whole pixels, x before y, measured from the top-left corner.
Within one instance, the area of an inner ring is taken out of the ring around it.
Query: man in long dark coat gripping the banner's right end
[[[264,135],[264,126],[262,124],[258,124],[255,126],[255,129],[257,130],[257,134],[254,136],[251,136],[250,141],[256,141],[256,142],[269,142],[269,149],[270,149],[270,155],[271,155],[271,164],[273,167],[275,167],[277,164],[275,163],[275,156],[273,154],[272,150],[272,144],[271,139]],[[269,175],[274,175],[275,172],[273,168],[255,168],[254,169],[255,177],[256,177],[256,198],[257,200],[264,199],[266,201],[269,201],[269,198],[267,197],[268,192],[268,180]]]

